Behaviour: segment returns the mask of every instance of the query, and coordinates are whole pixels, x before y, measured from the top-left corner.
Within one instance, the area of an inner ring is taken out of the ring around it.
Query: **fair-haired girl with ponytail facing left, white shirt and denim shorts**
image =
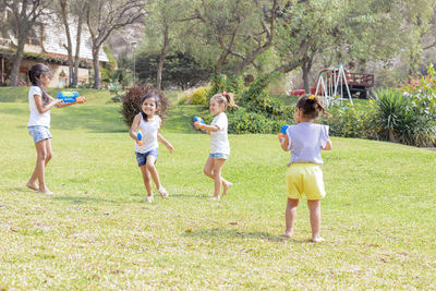
[[[198,121],[194,123],[196,129],[206,131],[210,135],[210,153],[204,167],[204,173],[215,181],[215,192],[214,196],[210,197],[211,199],[220,198],[221,184],[222,196],[225,196],[232,186],[232,183],[226,181],[221,177],[222,166],[230,155],[229,140],[227,136],[228,122],[225,113],[228,106],[237,106],[233,100],[233,94],[223,92],[214,95],[210,98],[209,110],[215,118],[210,125]]]

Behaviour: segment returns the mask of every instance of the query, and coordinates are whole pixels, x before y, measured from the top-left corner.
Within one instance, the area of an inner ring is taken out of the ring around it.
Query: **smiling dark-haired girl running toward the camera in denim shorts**
[[[167,190],[162,186],[159,173],[156,169],[156,159],[159,155],[158,142],[162,143],[170,153],[174,151],[172,145],[159,133],[161,119],[158,112],[164,114],[167,109],[167,100],[162,93],[150,90],[141,99],[141,112],[135,116],[130,129],[130,136],[136,141],[135,155],[137,166],[143,174],[144,185],[147,191],[147,203],[153,202],[152,180],[155,182],[157,192],[162,198],[168,197]],[[142,140],[138,140],[136,131],[141,130]]]

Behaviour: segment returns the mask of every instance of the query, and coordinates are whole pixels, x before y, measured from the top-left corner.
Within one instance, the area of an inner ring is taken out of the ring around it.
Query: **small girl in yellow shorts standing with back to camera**
[[[288,205],[283,235],[290,238],[293,234],[296,206],[304,193],[310,210],[312,241],[315,243],[324,240],[319,235],[320,199],[326,195],[320,150],[331,150],[328,126],[313,123],[319,113],[330,116],[318,97],[303,95],[296,104],[293,117],[296,125],[288,128],[284,138],[279,137],[281,148],[291,150],[291,160],[286,174]]]

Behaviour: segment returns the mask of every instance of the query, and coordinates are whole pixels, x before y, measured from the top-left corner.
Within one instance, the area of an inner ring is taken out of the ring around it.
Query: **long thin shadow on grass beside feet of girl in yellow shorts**
[[[239,238],[239,239],[259,239],[259,240],[265,240],[265,241],[270,241],[270,242],[286,242],[290,241],[289,239],[286,239],[282,235],[271,235],[267,232],[259,232],[259,231],[252,231],[252,232],[243,232],[239,230],[228,230],[228,229],[206,229],[206,230],[199,230],[199,231],[194,231],[194,232],[185,232],[185,237],[191,237],[191,238],[207,238],[207,237],[219,237],[219,238]],[[304,241],[295,241],[292,240],[292,242],[301,242],[303,243]]]

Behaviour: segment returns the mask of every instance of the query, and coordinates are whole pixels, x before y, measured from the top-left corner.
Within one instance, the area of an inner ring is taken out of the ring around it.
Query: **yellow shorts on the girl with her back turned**
[[[292,163],[287,170],[288,198],[316,201],[326,196],[323,170],[316,163]]]

